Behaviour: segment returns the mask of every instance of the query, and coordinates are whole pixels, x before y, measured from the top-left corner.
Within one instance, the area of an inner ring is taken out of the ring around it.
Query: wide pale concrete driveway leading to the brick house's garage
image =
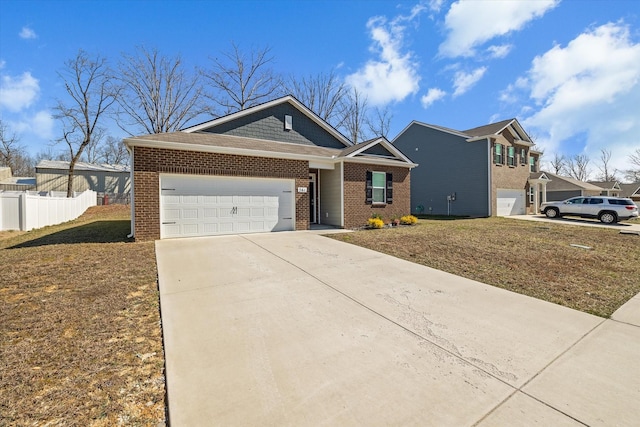
[[[605,320],[310,232],[156,256],[174,427],[640,419],[638,297]]]

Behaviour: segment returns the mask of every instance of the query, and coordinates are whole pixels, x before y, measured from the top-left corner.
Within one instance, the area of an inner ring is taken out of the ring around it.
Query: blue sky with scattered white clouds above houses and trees
[[[31,154],[60,135],[60,71],[136,46],[207,67],[231,42],[286,75],[335,69],[370,106],[464,130],[516,117],[545,152],[628,169],[640,148],[640,1],[0,0],[0,115]],[[117,128],[113,136],[124,136]]]

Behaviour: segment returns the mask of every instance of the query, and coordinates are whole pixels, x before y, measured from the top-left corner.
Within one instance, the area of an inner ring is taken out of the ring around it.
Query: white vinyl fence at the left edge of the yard
[[[51,191],[0,191],[0,230],[29,231],[47,225],[61,224],[78,218],[90,206],[96,206],[96,192],[74,193]]]

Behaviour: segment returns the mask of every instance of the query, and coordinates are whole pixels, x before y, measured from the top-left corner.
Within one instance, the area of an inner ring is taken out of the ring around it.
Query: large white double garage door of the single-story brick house
[[[160,238],[293,230],[291,179],[160,176]]]

